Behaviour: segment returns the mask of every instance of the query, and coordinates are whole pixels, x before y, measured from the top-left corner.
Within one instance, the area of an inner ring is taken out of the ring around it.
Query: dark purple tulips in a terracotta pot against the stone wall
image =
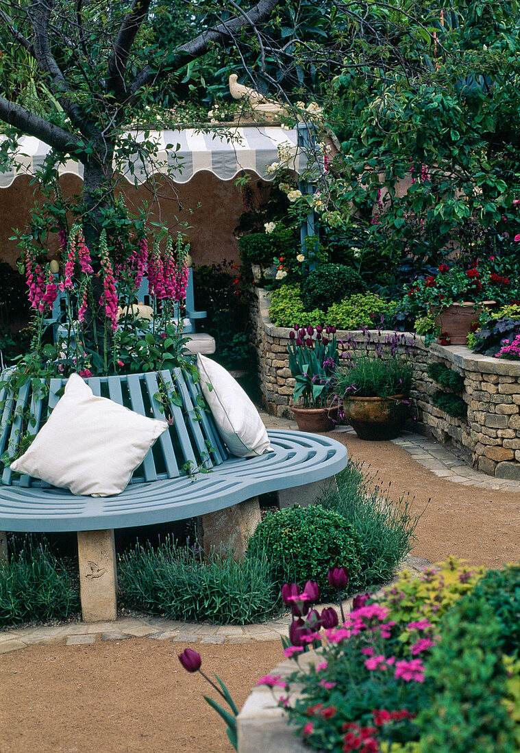
[[[339,352],[335,331],[335,327],[322,325],[295,325],[289,333],[289,369],[295,379],[291,410],[300,431],[330,431],[337,419],[335,370]]]

